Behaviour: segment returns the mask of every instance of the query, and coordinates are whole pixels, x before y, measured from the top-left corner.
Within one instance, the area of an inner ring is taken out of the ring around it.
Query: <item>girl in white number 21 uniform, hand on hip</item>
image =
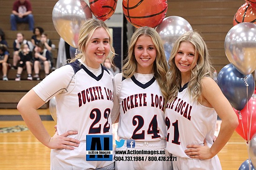
[[[229,141],[238,120],[212,78],[214,69],[200,34],[186,32],[178,38],[168,63],[166,149],[177,157],[173,170],[221,170],[216,154]],[[213,143],[217,115],[222,124]]]

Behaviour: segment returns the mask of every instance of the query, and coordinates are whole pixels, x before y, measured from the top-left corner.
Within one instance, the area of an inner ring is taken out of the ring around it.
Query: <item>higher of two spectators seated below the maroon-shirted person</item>
[[[17,63],[20,60],[19,50],[20,50],[20,46],[22,44],[27,44],[28,47],[30,47],[29,42],[24,38],[24,34],[21,32],[18,32],[17,39],[15,39],[13,41],[13,66],[12,66],[12,69],[17,69]],[[31,50],[31,48],[30,48],[30,50]]]

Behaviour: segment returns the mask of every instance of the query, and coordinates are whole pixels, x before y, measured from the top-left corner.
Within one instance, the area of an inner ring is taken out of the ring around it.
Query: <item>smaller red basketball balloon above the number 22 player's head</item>
[[[117,0],[90,0],[89,5],[97,19],[105,21],[115,13]]]

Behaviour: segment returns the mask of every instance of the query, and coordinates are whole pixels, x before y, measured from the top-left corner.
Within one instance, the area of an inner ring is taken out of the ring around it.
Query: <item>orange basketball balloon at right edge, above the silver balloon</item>
[[[252,9],[252,6],[245,2],[236,12],[233,25],[242,23],[242,22],[251,22],[256,24],[256,10]]]

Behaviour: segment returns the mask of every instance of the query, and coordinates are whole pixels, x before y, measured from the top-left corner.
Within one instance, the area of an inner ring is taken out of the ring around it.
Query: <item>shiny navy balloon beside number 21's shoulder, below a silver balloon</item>
[[[252,74],[243,75],[231,63],[220,70],[217,81],[222,93],[236,110],[242,110],[254,93]]]

